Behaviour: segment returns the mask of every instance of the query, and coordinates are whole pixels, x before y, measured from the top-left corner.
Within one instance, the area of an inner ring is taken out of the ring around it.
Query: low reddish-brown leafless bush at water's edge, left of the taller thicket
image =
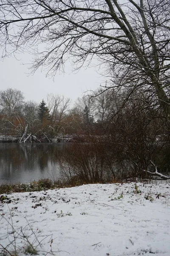
[[[71,143],[64,154],[63,171],[68,180],[76,178],[85,183],[104,182],[105,154],[103,148],[96,141],[87,143]]]

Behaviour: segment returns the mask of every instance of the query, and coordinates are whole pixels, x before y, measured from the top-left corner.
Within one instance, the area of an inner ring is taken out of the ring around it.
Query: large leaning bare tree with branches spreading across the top
[[[70,55],[77,68],[96,56],[114,86],[152,91],[169,119],[169,13],[169,0],[0,0],[0,44],[33,49],[48,75]]]

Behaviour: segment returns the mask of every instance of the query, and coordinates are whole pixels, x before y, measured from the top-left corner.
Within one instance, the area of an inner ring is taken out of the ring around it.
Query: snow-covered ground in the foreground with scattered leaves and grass
[[[170,256],[170,183],[136,185],[6,195],[0,204],[0,244],[7,247],[15,236],[21,256],[28,241],[40,256]]]

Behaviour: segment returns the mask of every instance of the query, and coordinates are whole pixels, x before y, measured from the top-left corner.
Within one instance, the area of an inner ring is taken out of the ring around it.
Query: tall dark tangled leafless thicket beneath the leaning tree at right
[[[168,158],[163,156],[168,154],[169,138],[164,134],[164,119],[153,104],[152,93],[141,96],[134,92],[122,108],[126,97],[124,92],[122,99],[116,101],[116,105],[120,104],[119,112],[105,131],[109,163],[116,169],[116,175],[124,177],[145,177],[143,170],[153,172],[150,161],[164,172]]]

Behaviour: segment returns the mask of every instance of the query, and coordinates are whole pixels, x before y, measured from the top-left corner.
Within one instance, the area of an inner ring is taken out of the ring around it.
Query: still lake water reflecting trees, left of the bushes
[[[0,184],[60,178],[69,143],[0,143]]]

